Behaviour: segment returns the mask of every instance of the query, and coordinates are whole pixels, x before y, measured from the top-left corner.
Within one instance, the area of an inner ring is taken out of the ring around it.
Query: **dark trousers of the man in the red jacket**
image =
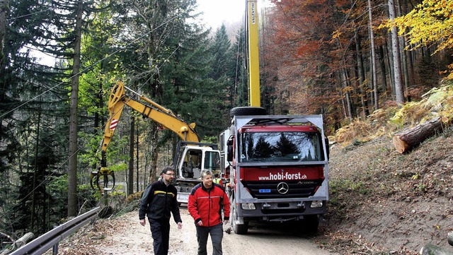
[[[207,255],[207,237],[211,235],[212,241],[212,254],[222,254],[222,238],[224,237],[224,229],[222,223],[212,227],[197,226],[197,241],[198,241],[198,255]]]

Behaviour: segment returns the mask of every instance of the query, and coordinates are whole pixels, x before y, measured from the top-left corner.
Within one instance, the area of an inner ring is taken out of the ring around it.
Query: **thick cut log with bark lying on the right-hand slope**
[[[394,146],[398,153],[406,153],[440,131],[442,131],[442,121],[440,117],[437,117],[395,134],[393,139]]]

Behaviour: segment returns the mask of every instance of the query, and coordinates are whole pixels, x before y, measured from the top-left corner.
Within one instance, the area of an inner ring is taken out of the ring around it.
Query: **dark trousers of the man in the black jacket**
[[[170,221],[150,218],[148,218],[148,221],[153,237],[154,255],[167,255],[168,240],[170,239]]]

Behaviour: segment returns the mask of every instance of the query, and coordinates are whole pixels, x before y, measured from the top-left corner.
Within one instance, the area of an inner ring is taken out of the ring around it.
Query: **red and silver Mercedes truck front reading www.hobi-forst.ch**
[[[316,231],[328,201],[321,115],[234,116],[221,154],[230,166],[231,225],[297,221]],[[222,139],[221,139],[222,140]]]

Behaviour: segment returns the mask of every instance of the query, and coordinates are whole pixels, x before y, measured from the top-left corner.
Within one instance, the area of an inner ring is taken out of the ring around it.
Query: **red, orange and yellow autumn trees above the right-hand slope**
[[[273,88],[277,113],[324,114],[334,130],[345,119],[365,118],[389,105],[385,102],[395,100],[391,25],[398,27],[401,38],[406,101],[420,100],[451,64],[452,0],[425,0],[415,8],[409,1],[395,1],[400,17],[394,23],[386,21],[389,6],[384,0],[272,2],[263,22],[261,71],[265,88]]]

